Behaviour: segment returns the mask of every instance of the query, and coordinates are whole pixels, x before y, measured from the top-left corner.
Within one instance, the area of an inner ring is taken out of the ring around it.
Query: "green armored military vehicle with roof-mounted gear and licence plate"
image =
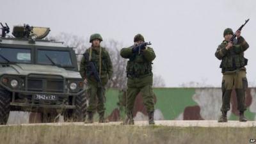
[[[2,26],[0,36],[0,124],[10,111],[42,113],[44,122],[63,115],[83,121],[86,98],[76,54],[63,42],[46,40],[49,28]]]

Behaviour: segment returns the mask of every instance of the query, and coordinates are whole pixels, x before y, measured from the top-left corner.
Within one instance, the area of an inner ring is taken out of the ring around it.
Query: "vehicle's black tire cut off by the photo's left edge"
[[[10,93],[0,88],[0,125],[7,123],[10,114]]]

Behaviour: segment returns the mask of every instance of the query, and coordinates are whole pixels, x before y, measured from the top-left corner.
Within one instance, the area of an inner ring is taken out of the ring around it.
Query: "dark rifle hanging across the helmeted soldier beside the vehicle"
[[[89,76],[93,76],[95,78],[95,80],[100,84],[100,86],[102,86],[102,82],[100,80],[100,76],[99,76],[99,72],[95,66],[95,63],[93,63],[93,61],[89,61],[89,53],[85,52],[83,54],[85,61],[88,62],[88,65],[86,66],[86,70],[89,73]]]

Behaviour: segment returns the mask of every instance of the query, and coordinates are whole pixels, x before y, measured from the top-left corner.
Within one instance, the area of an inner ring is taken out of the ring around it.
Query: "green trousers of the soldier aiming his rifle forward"
[[[147,111],[154,111],[154,93],[152,89],[152,76],[141,77],[141,78],[131,78],[128,77],[127,81],[127,104],[126,113],[129,113],[134,108],[134,102],[136,96],[141,92],[143,97],[143,104],[147,108]]]

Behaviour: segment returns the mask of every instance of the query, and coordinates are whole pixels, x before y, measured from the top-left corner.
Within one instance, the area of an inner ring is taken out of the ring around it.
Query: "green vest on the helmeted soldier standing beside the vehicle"
[[[86,52],[90,54],[90,61],[93,61],[95,67],[97,68],[100,78],[108,76],[108,55],[106,49],[101,47],[101,52],[90,47]],[[101,56],[101,57],[100,57]],[[101,61],[101,63],[100,63]],[[86,76],[89,75],[89,72],[86,72]]]

